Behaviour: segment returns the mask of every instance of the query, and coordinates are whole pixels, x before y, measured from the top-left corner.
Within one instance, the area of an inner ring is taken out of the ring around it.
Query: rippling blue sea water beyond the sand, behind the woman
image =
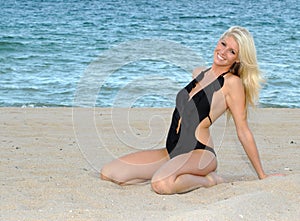
[[[199,64],[209,66],[220,35],[240,25],[253,34],[267,79],[260,106],[300,107],[298,0],[0,3],[0,106],[73,106],[78,93],[85,93],[79,87],[91,64],[123,43],[136,46],[134,40],[182,45],[203,59]],[[135,49],[140,48],[132,48],[128,56]],[[123,66],[112,70],[93,78],[97,90],[87,88],[93,105],[170,107],[191,77],[187,70],[155,56],[129,63],[125,58]]]

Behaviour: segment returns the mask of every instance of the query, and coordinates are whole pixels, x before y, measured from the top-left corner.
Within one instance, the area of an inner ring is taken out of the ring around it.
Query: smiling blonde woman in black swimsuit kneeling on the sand
[[[260,72],[251,34],[232,27],[220,38],[211,68],[196,69],[195,78],[177,95],[166,148],[132,153],[101,170],[101,178],[120,185],[151,180],[159,194],[184,193],[222,182],[214,171],[216,153],[209,127],[225,111],[259,179],[265,174],[247,124],[247,106],[258,97]]]

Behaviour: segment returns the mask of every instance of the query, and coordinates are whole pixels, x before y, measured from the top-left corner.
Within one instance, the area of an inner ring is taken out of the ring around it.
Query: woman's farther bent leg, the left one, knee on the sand
[[[168,160],[166,149],[128,154],[104,165],[101,179],[119,185],[142,183],[151,180],[153,174]]]

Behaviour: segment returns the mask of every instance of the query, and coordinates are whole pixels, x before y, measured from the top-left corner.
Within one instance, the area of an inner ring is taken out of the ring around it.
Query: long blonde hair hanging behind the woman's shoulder
[[[230,71],[238,75],[243,82],[246,107],[248,104],[255,106],[263,78],[256,59],[253,37],[246,28],[239,26],[229,28],[221,39],[229,36],[233,37],[239,45],[239,62],[233,64]]]

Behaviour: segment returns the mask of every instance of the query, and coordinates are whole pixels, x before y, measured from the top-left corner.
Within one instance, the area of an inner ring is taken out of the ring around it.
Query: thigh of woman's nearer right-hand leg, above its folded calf
[[[216,170],[217,159],[215,155],[206,150],[193,150],[186,154],[178,155],[166,162],[154,174],[152,182],[165,179],[175,180],[183,174],[206,176]]]

